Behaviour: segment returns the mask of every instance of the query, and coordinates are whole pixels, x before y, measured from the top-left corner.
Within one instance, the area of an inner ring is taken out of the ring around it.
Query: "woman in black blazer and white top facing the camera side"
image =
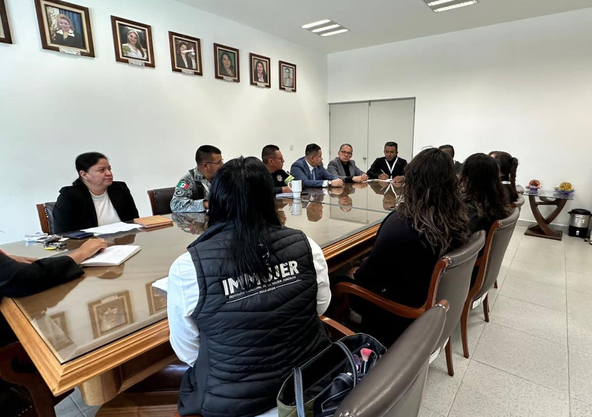
[[[56,233],[138,218],[126,183],[114,181],[107,157],[88,152],[76,158],[78,179],[63,187],[53,209]]]

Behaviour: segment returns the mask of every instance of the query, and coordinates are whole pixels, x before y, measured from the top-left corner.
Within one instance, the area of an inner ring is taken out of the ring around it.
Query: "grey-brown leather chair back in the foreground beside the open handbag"
[[[414,321],[343,399],[334,417],[417,417],[429,357],[448,321],[447,309],[448,302],[440,301]]]

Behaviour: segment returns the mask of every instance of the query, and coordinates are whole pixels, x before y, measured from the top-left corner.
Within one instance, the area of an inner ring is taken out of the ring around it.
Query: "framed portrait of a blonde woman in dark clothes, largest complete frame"
[[[35,0],[43,49],[95,56],[88,8],[58,0]]]

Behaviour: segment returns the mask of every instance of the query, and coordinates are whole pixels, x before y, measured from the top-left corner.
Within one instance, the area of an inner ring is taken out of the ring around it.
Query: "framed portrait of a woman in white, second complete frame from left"
[[[150,25],[111,16],[115,60],[154,68],[154,47]]]

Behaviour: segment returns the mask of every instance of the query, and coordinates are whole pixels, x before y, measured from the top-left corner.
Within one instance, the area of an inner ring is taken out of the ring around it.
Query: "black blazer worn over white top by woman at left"
[[[114,181],[107,193],[121,221],[140,217],[126,183]],[[53,209],[53,218],[56,233],[97,227],[95,205],[88,188],[84,184],[63,187]]]

